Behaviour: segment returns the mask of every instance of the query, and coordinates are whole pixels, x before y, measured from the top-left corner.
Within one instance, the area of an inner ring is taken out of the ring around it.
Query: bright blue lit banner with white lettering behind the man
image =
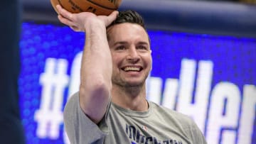
[[[256,143],[255,27],[243,27],[242,35],[204,28],[208,33],[148,25],[153,69],[147,99],[191,116],[210,144]],[[63,108],[78,91],[84,40],[66,26],[24,21],[18,84],[28,144],[69,143]]]

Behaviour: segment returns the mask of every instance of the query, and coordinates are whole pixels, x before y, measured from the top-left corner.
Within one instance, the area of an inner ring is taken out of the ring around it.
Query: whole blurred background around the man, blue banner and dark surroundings
[[[1,7],[14,18],[1,26],[1,140],[68,144],[63,108],[78,91],[85,34],[59,23],[50,0]],[[125,9],[142,14],[151,38],[147,99],[191,116],[209,144],[256,143],[256,1],[123,0]]]

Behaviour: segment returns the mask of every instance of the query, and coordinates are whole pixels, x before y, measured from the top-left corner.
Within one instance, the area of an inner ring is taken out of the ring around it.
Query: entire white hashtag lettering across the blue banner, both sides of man
[[[82,52],[79,52],[73,60],[70,81],[67,60],[46,60],[45,72],[39,79],[42,85],[41,105],[34,116],[38,122],[38,138],[59,138],[60,125],[63,124],[64,90],[68,88],[67,100],[78,92],[81,58]],[[245,84],[241,96],[235,84],[219,82],[210,94],[212,79],[212,61],[183,59],[179,79],[167,78],[164,81],[161,77],[150,76],[146,79],[147,99],[191,116],[201,131],[206,130],[204,134],[209,144],[252,143],[256,87]],[[63,142],[69,144],[65,131]]]

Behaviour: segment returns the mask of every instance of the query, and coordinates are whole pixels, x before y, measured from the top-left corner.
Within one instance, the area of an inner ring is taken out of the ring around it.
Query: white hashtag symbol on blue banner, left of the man
[[[40,109],[35,112],[38,122],[38,138],[58,139],[60,125],[63,123],[63,95],[68,86],[68,62],[64,59],[48,58],[45,72],[40,75],[42,85]]]

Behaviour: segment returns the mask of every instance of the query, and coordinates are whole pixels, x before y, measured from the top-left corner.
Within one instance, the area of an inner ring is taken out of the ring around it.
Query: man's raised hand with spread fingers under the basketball
[[[73,31],[85,31],[86,27],[90,25],[90,21],[99,21],[107,27],[117,18],[118,14],[118,11],[113,11],[110,16],[96,16],[91,12],[70,13],[60,5],[57,5],[56,8],[60,22],[70,26]]]

